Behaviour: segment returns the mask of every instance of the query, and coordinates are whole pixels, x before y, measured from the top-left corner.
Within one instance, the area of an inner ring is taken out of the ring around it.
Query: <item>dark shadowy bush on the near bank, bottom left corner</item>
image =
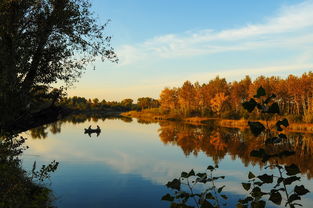
[[[33,174],[29,176],[19,158],[28,148],[24,146],[25,140],[16,135],[0,136],[0,207],[52,207],[52,192],[43,181],[57,169],[58,163],[53,161],[39,171],[34,165]]]

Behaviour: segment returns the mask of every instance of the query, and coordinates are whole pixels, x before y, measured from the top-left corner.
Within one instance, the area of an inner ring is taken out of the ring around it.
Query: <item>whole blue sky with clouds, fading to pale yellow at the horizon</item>
[[[120,101],[158,98],[184,81],[313,70],[313,0],[91,0],[111,20],[119,63],[88,66],[69,96]],[[95,70],[93,70],[95,68]]]

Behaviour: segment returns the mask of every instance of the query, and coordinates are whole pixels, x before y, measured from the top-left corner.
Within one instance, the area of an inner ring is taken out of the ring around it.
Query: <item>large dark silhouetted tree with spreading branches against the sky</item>
[[[107,23],[98,24],[90,6],[88,0],[0,2],[2,115],[25,110],[36,85],[69,85],[97,57],[118,61],[104,34]]]

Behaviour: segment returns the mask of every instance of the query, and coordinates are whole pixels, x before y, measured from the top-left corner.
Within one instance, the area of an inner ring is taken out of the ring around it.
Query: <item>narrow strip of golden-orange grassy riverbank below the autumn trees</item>
[[[168,121],[180,121],[184,123],[190,123],[194,125],[206,125],[213,120],[221,127],[227,128],[239,128],[246,129],[249,128],[248,121],[251,120],[232,120],[232,119],[220,119],[220,118],[208,118],[208,117],[173,117],[170,115],[158,115],[153,112],[140,112],[140,111],[129,111],[125,113],[121,113],[122,116],[137,118],[141,120],[148,121],[160,121],[160,120],[168,120]],[[263,125],[275,126],[276,121],[262,121],[262,120],[254,120],[261,122]],[[308,123],[292,123],[289,122],[289,126],[285,129],[288,132],[301,132],[301,133],[311,133],[313,134],[313,124]]]

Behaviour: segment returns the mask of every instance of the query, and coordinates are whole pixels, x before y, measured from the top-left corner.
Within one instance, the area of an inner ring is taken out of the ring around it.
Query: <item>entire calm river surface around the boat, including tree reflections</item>
[[[74,121],[74,122],[73,122]],[[47,164],[60,162],[47,185],[54,191],[57,207],[169,207],[161,197],[170,190],[164,185],[182,171],[204,171],[218,164],[214,173],[225,176],[217,185],[225,185],[227,207],[234,207],[248,192],[249,171],[271,174],[264,164],[249,153],[262,142],[247,132],[209,126],[179,123],[145,123],[129,119],[76,118],[57,122],[26,133],[30,147],[23,156],[24,166],[31,169],[34,161]],[[97,137],[84,134],[84,128],[99,125]],[[301,181],[313,190],[313,137],[290,135],[299,151],[282,159],[296,164],[302,171]],[[284,148],[290,146],[285,144]],[[282,148],[281,146],[278,148]],[[274,162],[274,161],[270,161]],[[313,195],[305,195],[303,207],[313,206]]]

